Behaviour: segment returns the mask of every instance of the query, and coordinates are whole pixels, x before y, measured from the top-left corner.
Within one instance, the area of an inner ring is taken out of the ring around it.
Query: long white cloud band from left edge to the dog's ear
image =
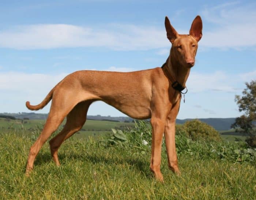
[[[105,29],[70,24],[35,24],[1,31],[0,47],[106,47],[115,50],[147,50],[169,45],[165,35],[163,29],[124,24],[109,24]]]

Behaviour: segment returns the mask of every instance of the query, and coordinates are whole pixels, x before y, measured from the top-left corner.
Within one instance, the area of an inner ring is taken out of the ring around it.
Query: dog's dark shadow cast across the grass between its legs
[[[148,163],[139,161],[132,158],[122,158],[118,159],[116,157],[107,159],[105,156],[102,155],[84,155],[84,154],[64,154],[59,153],[59,160],[61,165],[65,165],[65,161],[67,160],[77,160],[77,161],[83,161],[83,162],[89,162],[92,164],[102,163],[104,165],[110,165],[111,167],[115,165],[127,165],[129,168],[136,169],[139,173],[142,173],[147,178],[152,178],[153,174],[149,170]],[[39,153],[37,155],[37,158],[35,159],[35,166],[45,165],[46,163],[50,163],[52,161],[52,156],[49,153]],[[93,166],[92,166],[93,167]]]

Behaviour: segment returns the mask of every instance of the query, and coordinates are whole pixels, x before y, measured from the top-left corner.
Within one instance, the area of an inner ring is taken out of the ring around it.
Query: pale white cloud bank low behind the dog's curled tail
[[[29,112],[26,101],[36,105],[67,74],[29,74],[21,72],[0,73],[0,112]],[[49,112],[50,104],[43,112]]]

